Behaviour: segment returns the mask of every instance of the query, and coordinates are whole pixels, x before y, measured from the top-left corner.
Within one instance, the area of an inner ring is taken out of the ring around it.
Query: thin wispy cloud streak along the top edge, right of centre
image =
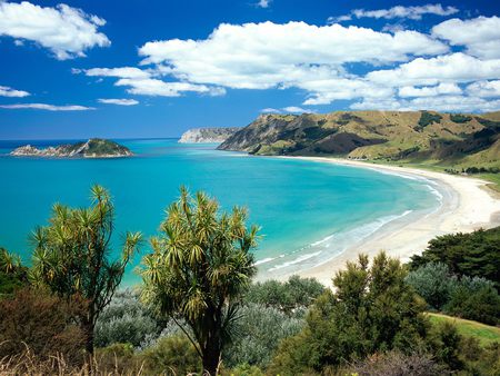
[[[354,9],[349,14],[340,17],[330,17],[330,22],[341,22],[350,21],[353,18],[377,18],[377,19],[394,19],[394,18],[407,18],[410,20],[421,20],[424,14],[436,14],[436,16],[450,16],[457,13],[459,10],[454,7],[442,7],[440,3],[426,4],[417,7],[392,7],[390,9],[377,9],[377,10],[366,10],[366,9]]]

